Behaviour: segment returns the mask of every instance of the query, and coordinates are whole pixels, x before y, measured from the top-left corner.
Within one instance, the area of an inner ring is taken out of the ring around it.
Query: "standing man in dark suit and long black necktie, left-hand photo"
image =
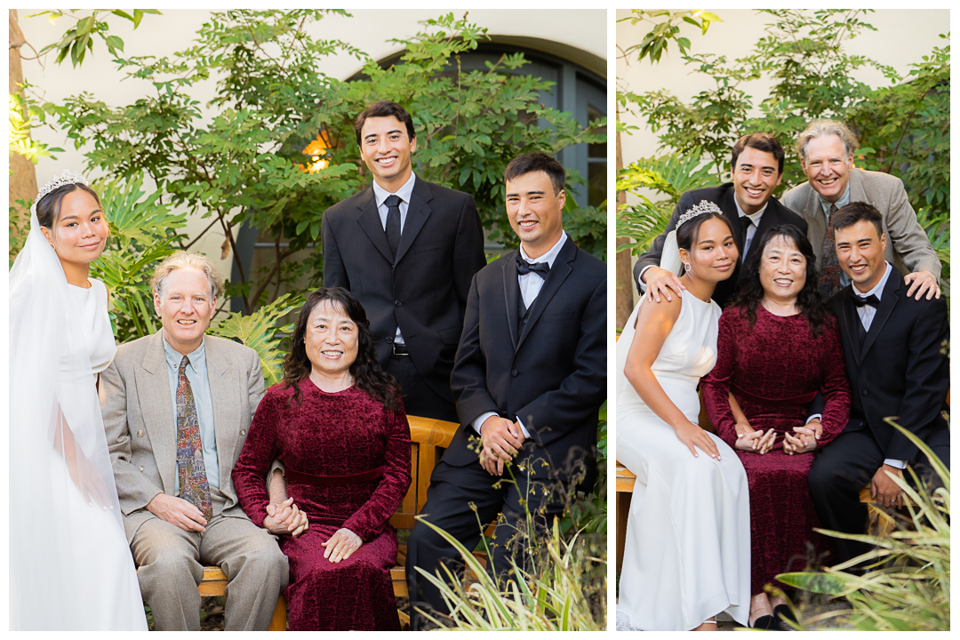
[[[380,364],[409,415],[456,421],[450,370],[474,273],[486,264],[473,198],[417,178],[413,118],[372,104],[354,123],[373,181],[324,212],[324,287],[367,310]]]

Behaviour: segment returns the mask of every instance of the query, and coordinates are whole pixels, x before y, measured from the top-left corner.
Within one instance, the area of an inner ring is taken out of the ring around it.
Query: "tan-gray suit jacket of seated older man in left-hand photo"
[[[247,439],[263,397],[263,373],[256,351],[223,338],[206,336],[206,372],[213,400],[213,429],[220,464],[223,515],[247,518],[230,472]],[[163,354],[163,330],[121,344],[101,373],[101,407],[113,477],[120,497],[127,540],[156,515],[146,509],[157,493],[174,494],[177,477],[177,422]]]

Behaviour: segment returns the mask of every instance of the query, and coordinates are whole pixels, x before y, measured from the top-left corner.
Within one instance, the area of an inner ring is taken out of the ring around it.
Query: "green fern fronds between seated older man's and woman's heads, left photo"
[[[240,313],[229,314],[227,318],[211,325],[207,333],[237,340],[256,351],[260,356],[264,384],[272,387],[283,378],[281,364],[284,353],[280,341],[284,336],[279,334],[290,335],[294,330],[292,322],[284,326],[276,326],[276,322],[299,307],[301,303],[302,300],[290,294],[284,294],[249,316]]]

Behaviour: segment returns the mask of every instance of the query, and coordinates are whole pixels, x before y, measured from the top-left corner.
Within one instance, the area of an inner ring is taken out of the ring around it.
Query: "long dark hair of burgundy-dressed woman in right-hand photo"
[[[810,245],[810,241],[806,239],[806,234],[794,225],[772,226],[764,231],[758,242],[754,241],[756,242],[756,248],[747,257],[747,262],[743,266],[746,270],[743,280],[727,306],[741,307],[742,315],[750,320],[750,326],[753,328],[756,324],[756,306],[763,299],[763,285],[760,283],[760,260],[763,257],[763,250],[774,238],[778,237],[793,241],[793,246],[806,258],[806,282],[804,282],[804,288],[797,294],[797,306],[800,307],[800,312],[810,325],[810,333],[816,338],[820,335],[821,329],[832,318],[832,315],[817,290],[819,275],[816,266],[817,258],[813,255],[813,247]]]

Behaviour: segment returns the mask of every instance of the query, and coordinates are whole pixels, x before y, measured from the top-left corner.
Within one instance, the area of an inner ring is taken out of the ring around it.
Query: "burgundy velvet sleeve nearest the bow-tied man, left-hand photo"
[[[370,500],[344,523],[344,529],[364,540],[382,531],[410,487],[410,425],[407,424],[407,415],[402,405],[396,412],[385,414],[387,442],[383,454],[383,479]]]

